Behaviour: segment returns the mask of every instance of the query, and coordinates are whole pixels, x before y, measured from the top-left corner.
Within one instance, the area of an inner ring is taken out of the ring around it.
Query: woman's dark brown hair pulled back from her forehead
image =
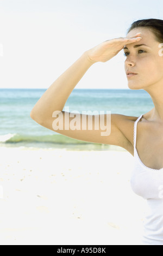
[[[163,20],[158,19],[146,19],[146,20],[137,20],[131,24],[131,27],[128,29],[129,33],[134,28],[144,27],[148,28],[151,32],[154,33],[156,41],[163,43]]]

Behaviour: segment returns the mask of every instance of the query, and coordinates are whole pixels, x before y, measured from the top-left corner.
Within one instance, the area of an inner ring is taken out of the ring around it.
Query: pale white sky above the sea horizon
[[[163,19],[161,0],[0,0],[0,88],[48,88],[84,51]],[[128,88],[123,51],[76,88]]]

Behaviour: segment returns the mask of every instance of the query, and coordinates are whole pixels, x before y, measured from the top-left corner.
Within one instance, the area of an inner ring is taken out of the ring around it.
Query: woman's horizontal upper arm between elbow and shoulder
[[[32,116],[31,116],[32,117]],[[132,118],[119,114],[83,115],[62,111],[56,117],[37,121],[41,126],[73,139],[126,148],[132,139]],[[92,127],[91,127],[92,126]],[[59,128],[59,129],[58,129]],[[105,128],[105,129],[104,129]]]

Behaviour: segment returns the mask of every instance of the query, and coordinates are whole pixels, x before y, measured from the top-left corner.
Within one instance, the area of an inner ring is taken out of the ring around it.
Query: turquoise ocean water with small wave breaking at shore
[[[75,140],[41,127],[30,118],[30,111],[46,91],[43,89],[0,89],[0,146],[65,148],[66,150],[109,150],[110,145]],[[143,90],[74,89],[65,108],[70,112],[111,111],[111,114],[137,116],[154,107]],[[65,111],[67,111],[64,108]],[[120,148],[116,147],[117,150]]]

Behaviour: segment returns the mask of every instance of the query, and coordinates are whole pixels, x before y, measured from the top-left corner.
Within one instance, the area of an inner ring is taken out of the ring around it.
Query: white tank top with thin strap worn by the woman
[[[147,200],[142,245],[163,245],[163,168],[148,168],[136,150],[137,123],[142,116],[134,124],[134,168],[130,182],[133,191]]]

